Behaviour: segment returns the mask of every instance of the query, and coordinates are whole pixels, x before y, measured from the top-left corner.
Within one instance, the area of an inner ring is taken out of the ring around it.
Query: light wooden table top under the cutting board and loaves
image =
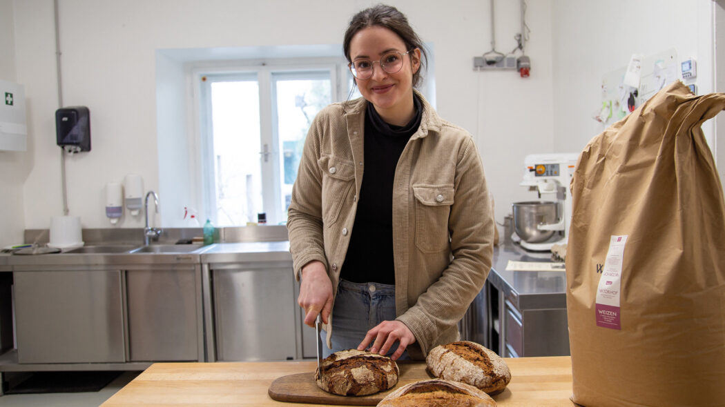
[[[505,358],[511,382],[494,396],[499,406],[574,406],[571,357]],[[423,362],[421,362],[423,363]],[[274,379],[312,372],[315,361],[157,363],[101,406],[288,406],[267,394]]]

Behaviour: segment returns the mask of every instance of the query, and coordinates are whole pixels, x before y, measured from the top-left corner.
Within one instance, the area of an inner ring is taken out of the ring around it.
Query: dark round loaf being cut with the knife
[[[368,395],[396,385],[399,372],[387,356],[348,349],[325,358],[315,372],[315,382],[328,393]]]

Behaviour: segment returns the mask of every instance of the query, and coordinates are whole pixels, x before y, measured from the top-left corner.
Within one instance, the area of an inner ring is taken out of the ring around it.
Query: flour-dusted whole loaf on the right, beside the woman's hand
[[[511,381],[511,372],[500,356],[467,340],[436,346],[428,353],[426,364],[435,377],[467,383],[486,393],[499,393]]]

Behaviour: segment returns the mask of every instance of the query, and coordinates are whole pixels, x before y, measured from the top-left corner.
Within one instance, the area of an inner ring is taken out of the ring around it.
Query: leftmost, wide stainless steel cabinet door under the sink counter
[[[14,272],[17,361],[124,362],[120,271]]]

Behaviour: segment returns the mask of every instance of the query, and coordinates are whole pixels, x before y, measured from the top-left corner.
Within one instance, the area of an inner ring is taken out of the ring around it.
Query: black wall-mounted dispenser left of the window
[[[67,153],[91,151],[91,114],[86,106],[69,106],[55,111],[58,146]]]

